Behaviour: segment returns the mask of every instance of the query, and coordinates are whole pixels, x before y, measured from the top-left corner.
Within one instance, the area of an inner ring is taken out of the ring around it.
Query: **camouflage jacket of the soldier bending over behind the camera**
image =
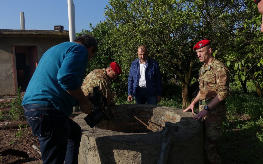
[[[93,87],[100,86],[103,95],[107,97],[108,104],[110,102],[110,87],[112,82],[107,77],[106,69],[95,69],[91,71],[84,79],[81,89],[85,96],[93,93]]]

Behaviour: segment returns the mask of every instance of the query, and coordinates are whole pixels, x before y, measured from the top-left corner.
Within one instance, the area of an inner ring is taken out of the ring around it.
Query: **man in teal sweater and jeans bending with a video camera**
[[[97,51],[97,41],[86,34],[51,47],[39,61],[22,105],[39,137],[43,163],[78,163],[81,128],[69,115],[75,100],[83,113],[93,109],[80,87],[87,62]]]

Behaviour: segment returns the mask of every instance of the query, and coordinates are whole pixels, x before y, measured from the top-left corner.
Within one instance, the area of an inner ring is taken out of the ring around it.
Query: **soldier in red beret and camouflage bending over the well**
[[[95,69],[91,71],[84,79],[81,89],[85,96],[92,95],[93,87],[100,86],[103,95],[107,98],[107,104],[112,105],[113,95],[110,95],[112,80],[116,79],[122,73],[122,68],[115,62],[112,62],[106,69]]]

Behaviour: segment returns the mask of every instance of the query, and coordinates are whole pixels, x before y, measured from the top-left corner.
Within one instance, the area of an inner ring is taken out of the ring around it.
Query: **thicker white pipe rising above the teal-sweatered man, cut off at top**
[[[75,5],[73,3],[73,0],[68,0],[68,24],[69,24],[69,41],[73,42],[76,39]]]

